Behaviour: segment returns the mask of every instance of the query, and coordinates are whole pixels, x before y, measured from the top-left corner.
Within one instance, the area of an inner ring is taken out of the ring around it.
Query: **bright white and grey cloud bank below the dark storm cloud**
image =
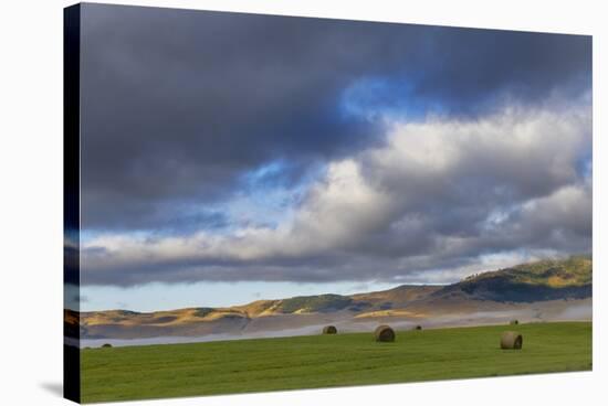
[[[83,280],[439,281],[590,250],[588,98],[387,120],[381,145],[329,161],[277,226],[102,234],[84,245]]]

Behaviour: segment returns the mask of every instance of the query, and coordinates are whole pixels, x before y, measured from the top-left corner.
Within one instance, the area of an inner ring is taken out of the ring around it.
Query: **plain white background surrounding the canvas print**
[[[114,1],[108,1],[114,2]],[[120,3],[594,35],[594,372],[132,402],[129,405],[605,404],[607,30],[601,1]],[[0,3],[0,404],[62,399],[62,0]],[[605,21],[604,21],[605,22]],[[604,76],[602,76],[604,74]],[[601,183],[605,183],[604,185]],[[604,341],[604,343],[602,343]]]

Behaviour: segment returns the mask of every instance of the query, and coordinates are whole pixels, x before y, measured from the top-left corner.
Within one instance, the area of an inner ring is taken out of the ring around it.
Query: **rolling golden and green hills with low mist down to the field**
[[[573,256],[482,273],[447,286],[405,285],[376,292],[258,300],[228,308],[82,312],[80,334],[83,339],[239,336],[264,331],[304,332],[304,327],[327,322],[357,331],[363,322],[387,319],[427,323],[443,320],[444,324],[449,324],[450,317],[458,324],[469,319],[474,323],[474,317],[480,323],[511,316],[559,319],[570,304],[589,302],[591,287],[591,258]],[[69,325],[77,323],[73,313],[66,317]],[[78,329],[72,325],[67,331]]]

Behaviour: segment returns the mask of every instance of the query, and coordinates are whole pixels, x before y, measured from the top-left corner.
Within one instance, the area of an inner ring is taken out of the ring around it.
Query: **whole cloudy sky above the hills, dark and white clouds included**
[[[591,39],[84,4],[83,310],[591,249]]]

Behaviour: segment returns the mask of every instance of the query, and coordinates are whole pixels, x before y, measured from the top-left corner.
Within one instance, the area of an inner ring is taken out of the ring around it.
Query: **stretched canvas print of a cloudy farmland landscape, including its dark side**
[[[591,368],[591,38],[65,9],[65,397]]]

